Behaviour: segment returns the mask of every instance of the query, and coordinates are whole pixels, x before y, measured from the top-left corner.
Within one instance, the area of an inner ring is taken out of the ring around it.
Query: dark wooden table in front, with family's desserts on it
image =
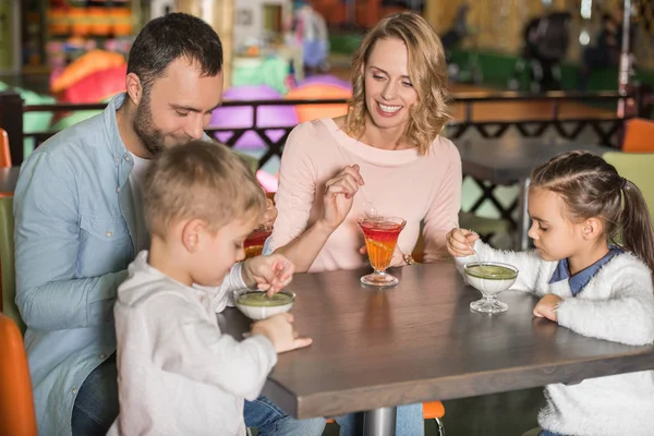
[[[392,435],[398,404],[654,368],[654,346],[586,338],[534,318],[526,293],[500,293],[504,314],[472,312],[481,294],[451,263],[391,271],[400,283],[387,290],[360,284],[367,269],[296,275],[292,312],[314,342],[280,354],[263,393],[296,419],[368,411],[366,435]],[[238,339],[251,324],[235,308],[218,320]]]

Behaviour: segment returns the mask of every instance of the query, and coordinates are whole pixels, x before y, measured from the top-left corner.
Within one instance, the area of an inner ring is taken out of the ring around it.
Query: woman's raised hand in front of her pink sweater
[[[352,209],[354,194],[363,184],[358,165],[348,166],[329,179],[325,184],[325,207],[318,222],[329,231],[336,230]]]

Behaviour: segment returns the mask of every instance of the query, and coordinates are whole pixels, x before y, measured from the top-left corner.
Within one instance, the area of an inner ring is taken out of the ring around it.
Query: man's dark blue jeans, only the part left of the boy
[[[86,377],[73,405],[73,436],[105,436],[118,416],[116,353]]]

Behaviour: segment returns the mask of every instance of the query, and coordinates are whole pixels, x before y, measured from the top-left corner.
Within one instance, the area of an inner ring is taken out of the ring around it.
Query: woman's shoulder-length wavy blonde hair
[[[424,156],[450,118],[447,113],[447,64],[440,38],[425,19],[413,12],[382,20],[363,38],[352,58],[352,99],[348,105],[344,130],[352,137],[361,137],[365,131],[367,107],[363,69],[375,44],[385,38],[397,38],[407,46],[409,77],[417,93],[417,101],[409,109],[404,140],[419,147],[420,155]]]

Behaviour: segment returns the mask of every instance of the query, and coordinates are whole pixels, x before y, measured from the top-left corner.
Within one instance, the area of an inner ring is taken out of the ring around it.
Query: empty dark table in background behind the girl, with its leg
[[[506,136],[500,140],[462,140],[457,142],[461,154],[463,173],[493,184],[520,183],[520,214],[518,219],[517,249],[526,250],[530,217],[526,213],[526,194],[534,167],[553,157],[576,149],[584,149],[602,156],[613,148],[566,140],[524,138]],[[473,229],[474,230],[474,229]]]

